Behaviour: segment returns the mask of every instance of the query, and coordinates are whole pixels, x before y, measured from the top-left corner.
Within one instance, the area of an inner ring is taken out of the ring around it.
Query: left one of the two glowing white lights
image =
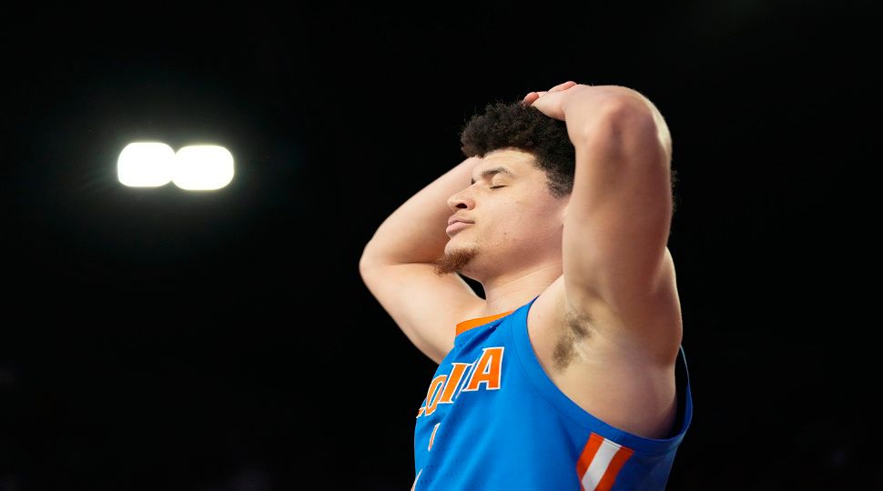
[[[159,142],[126,145],[117,159],[117,179],[132,187],[157,187],[172,180],[175,151]]]

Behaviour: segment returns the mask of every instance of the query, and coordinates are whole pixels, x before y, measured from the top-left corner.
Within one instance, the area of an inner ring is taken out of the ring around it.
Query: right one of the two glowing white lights
[[[190,191],[210,191],[233,180],[233,155],[218,145],[189,145],[175,155],[172,182]]]

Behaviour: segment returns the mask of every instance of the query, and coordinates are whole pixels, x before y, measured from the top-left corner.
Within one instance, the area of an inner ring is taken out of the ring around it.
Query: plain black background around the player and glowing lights
[[[435,367],[361,249],[473,112],[565,80],[672,131],[695,417],[669,489],[883,488],[871,2],[659,4],[7,8],[0,489],[410,488]],[[119,185],[146,139],[237,175]]]

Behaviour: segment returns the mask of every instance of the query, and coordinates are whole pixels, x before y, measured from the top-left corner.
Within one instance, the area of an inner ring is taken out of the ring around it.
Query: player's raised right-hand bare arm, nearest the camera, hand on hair
[[[672,219],[671,140],[643,95],[617,85],[571,85],[525,102],[563,119],[576,149],[563,229],[567,303],[607,336],[661,364],[680,343]]]

